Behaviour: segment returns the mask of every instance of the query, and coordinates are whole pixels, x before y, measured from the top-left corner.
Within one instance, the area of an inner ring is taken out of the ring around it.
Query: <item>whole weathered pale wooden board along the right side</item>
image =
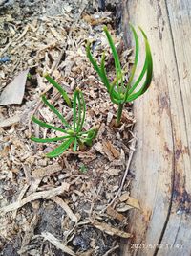
[[[135,102],[137,152],[132,197],[142,212],[130,213],[123,255],[191,253],[191,1],[123,0],[128,21],[149,38],[154,60],[151,88]],[[140,35],[140,34],[139,34]],[[142,54],[143,54],[142,49]]]

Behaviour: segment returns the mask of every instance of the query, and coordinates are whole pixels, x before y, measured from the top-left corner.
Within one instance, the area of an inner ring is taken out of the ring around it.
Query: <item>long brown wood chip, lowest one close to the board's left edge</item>
[[[117,236],[117,237],[121,237],[121,238],[131,238],[132,237],[132,235],[130,233],[121,231],[121,230],[117,229],[116,227],[112,227],[111,225],[104,223],[104,222],[93,221],[92,224],[99,230],[101,230],[111,236]]]

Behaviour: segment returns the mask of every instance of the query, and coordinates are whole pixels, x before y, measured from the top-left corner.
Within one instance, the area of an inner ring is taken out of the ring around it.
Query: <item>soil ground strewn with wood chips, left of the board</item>
[[[114,126],[117,105],[85,51],[88,40],[96,58],[104,51],[115,77],[106,24],[128,80],[133,57],[122,43],[120,17],[119,1],[0,1],[0,255],[115,256],[131,236],[128,214],[139,209],[129,192],[136,121],[129,104],[120,127]],[[75,87],[83,91],[85,129],[99,127],[93,147],[49,159],[44,155],[56,143],[30,140],[32,134],[59,136],[31,122],[35,115],[60,126],[40,95],[46,93],[69,122],[72,117],[45,72],[70,96]],[[10,83],[15,88],[5,96]]]

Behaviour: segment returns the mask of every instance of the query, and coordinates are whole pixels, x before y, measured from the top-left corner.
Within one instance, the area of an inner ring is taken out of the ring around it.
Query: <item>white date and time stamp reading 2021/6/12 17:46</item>
[[[182,249],[183,245],[182,244],[130,244],[131,249],[142,249],[142,250],[147,250],[147,249],[166,249],[166,250],[170,250],[170,249]]]

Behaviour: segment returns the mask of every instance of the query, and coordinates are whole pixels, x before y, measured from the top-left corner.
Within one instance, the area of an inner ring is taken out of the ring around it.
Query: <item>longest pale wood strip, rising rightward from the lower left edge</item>
[[[46,198],[46,199],[53,198],[57,195],[64,193],[65,191],[69,191],[69,187],[70,185],[68,183],[62,183],[62,185],[57,188],[53,188],[51,190],[45,190],[41,192],[35,192],[32,195],[28,196],[27,198],[13,202],[10,205],[1,208],[0,211],[3,213],[8,213],[21,208],[23,205],[33,200],[37,200],[41,198]]]

